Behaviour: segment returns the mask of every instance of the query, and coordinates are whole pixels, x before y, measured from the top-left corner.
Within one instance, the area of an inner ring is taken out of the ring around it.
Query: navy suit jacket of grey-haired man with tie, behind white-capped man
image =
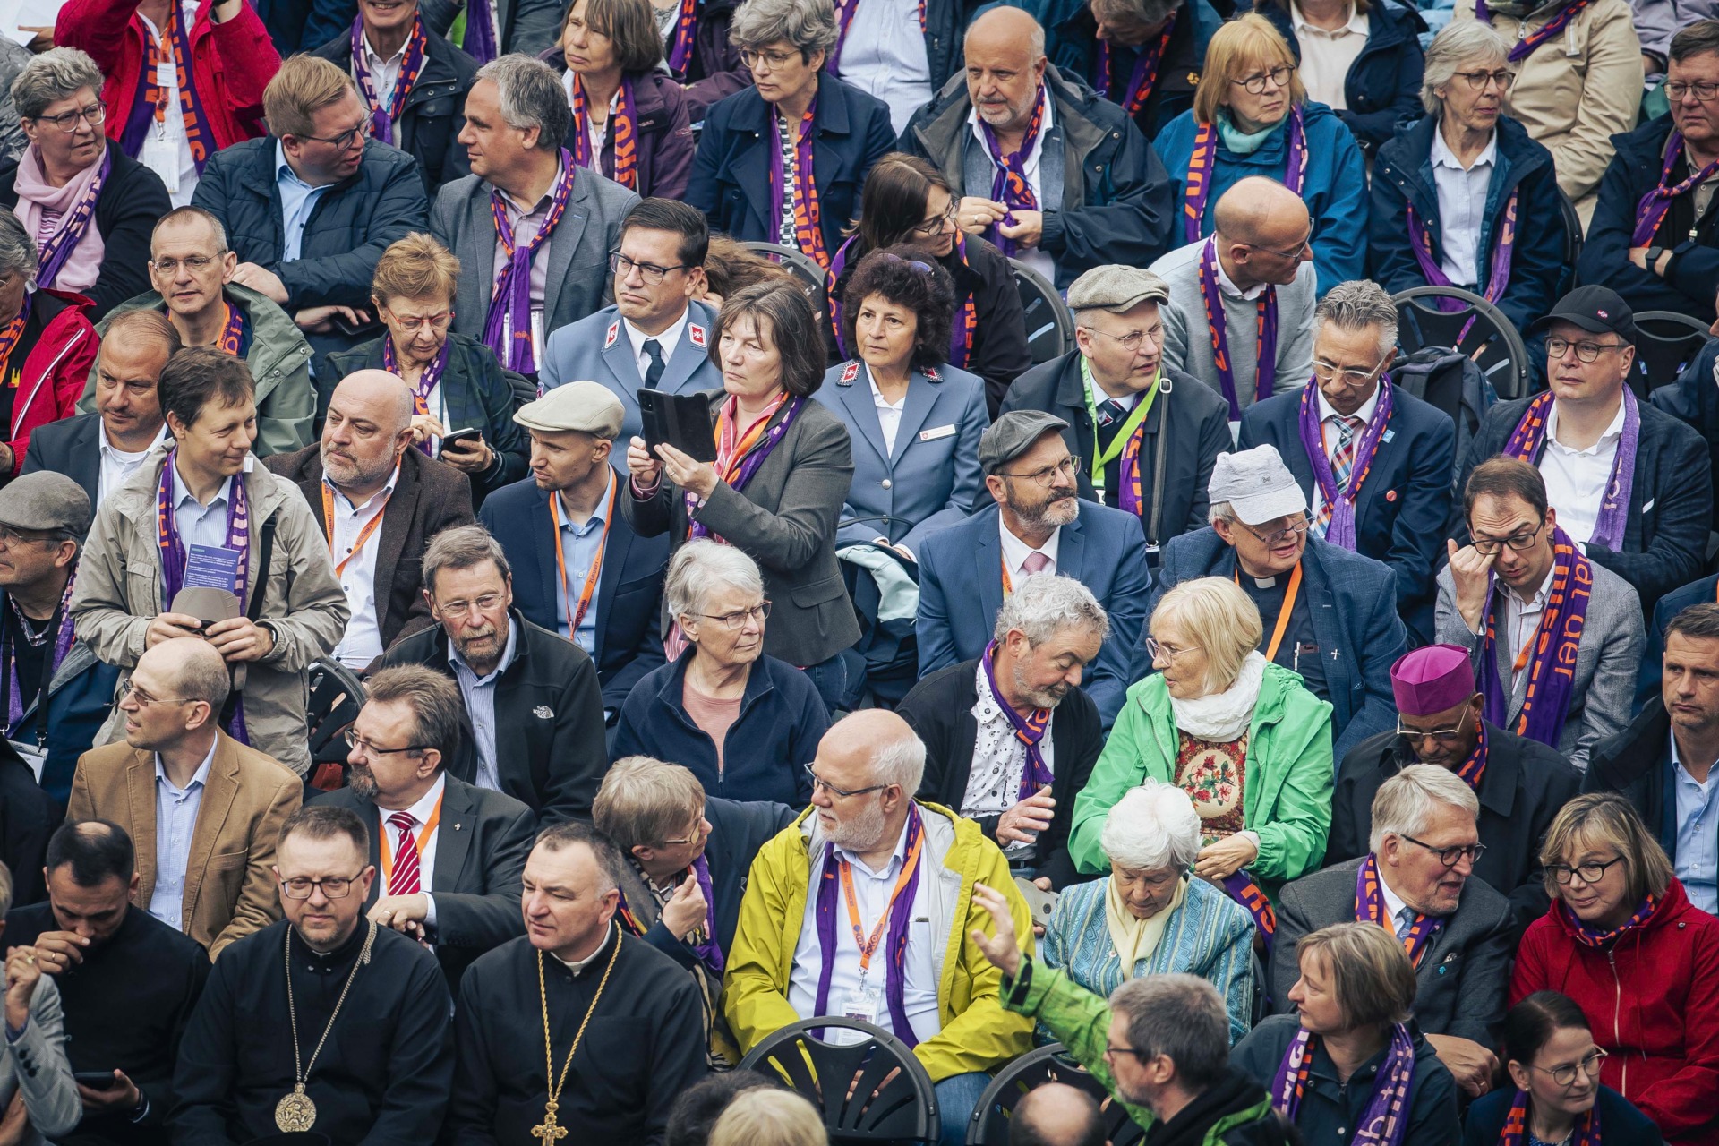
[[[1356,552],[1384,562],[1396,577],[1398,612],[1415,644],[1427,644],[1434,639],[1432,603],[1439,596],[1432,576],[1444,555],[1444,522],[1451,514],[1456,424],[1394,383],[1391,402],[1391,424],[1355,505],[1355,541]],[[1277,447],[1313,505],[1313,462],[1301,447],[1300,392],[1274,395],[1241,412],[1236,448],[1267,443]]]

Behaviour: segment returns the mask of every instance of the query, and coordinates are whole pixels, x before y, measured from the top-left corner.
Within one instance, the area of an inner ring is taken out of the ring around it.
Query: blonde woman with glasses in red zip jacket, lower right
[[[1671,1146],[1719,1146],[1719,919],[1612,792],[1569,801],[1540,863],[1552,907],[1516,950],[1511,1005],[1542,990],[1576,1000],[1607,1055],[1600,1081]]]

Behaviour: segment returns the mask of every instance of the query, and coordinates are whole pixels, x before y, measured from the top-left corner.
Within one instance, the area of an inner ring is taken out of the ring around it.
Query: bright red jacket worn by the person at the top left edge
[[[241,3],[239,15],[225,24],[210,21],[213,9],[213,0],[203,0],[191,24],[191,76],[215,136],[211,155],[268,134],[263,88],[280,70],[280,55],[249,3]],[[83,48],[107,76],[101,86],[107,134],[119,139],[138,98],[150,43],[138,19],[138,0],[69,0],[55,21],[53,43]]]

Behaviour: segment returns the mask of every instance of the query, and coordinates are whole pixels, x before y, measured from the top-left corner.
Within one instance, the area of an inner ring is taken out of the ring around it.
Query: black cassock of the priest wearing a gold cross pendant
[[[617,931],[574,976],[543,955],[555,1076],[584,1021]],[[480,957],[459,988],[459,1088],[449,1105],[449,1131],[461,1146],[536,1146],[543,1122],[543,1002],[538,959],[521,936]],[[705,1012],[693,976],[660,950],[621,940],[609,986],[591,1012],[567,1070],[557,1120],[564,1146],[598,1143],[660,1146],[669,1108],[705,1077]]]

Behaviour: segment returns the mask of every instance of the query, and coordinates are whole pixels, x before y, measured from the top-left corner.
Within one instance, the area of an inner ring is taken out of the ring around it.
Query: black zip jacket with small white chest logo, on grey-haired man
[[[495,682],[495,768],[502,792],[529,806],[543,825],[588,820],[596,785],[609,771],[603,751],[603,694],[584,649],[507,612],[517,627],[514,658]],[[416,632],[383,665],[426,665],[454,677],[440,625]],[[456,677],[457,679],[457,677]],[[478,751],[461,746],[449,775],[476,782]]]

